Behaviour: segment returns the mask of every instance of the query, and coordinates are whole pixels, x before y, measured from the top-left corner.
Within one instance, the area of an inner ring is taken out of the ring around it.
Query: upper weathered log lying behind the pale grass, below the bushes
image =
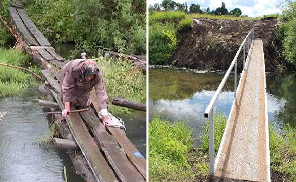
[[[105,57],[123,57],[126,58],[128,61],[135,63],[142,71],[143,73],[146,74],[146,60],[145,59],[141,59],[141,57],[137,56],[132,56],[132,55],[124,55],[124,54],[119,54],[117,52],[113,52],[113,51],[105,51]],[[144,58],[144,57],[142,57]]]

